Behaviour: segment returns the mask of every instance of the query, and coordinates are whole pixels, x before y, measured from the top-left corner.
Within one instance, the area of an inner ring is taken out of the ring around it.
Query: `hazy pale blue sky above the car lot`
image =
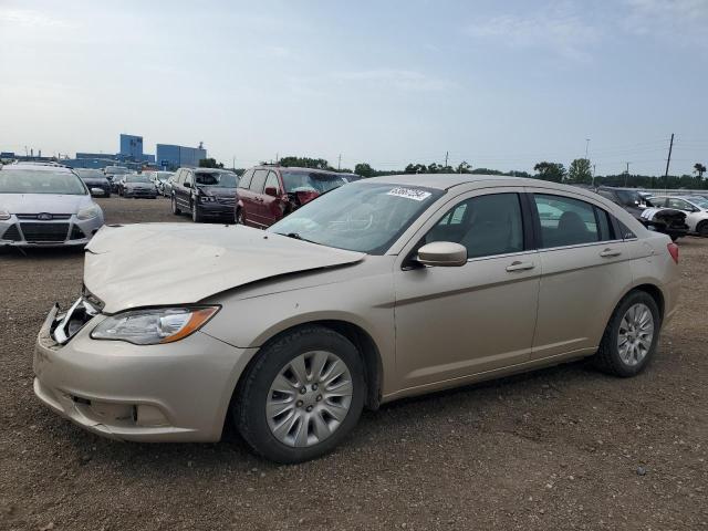
[[[0,150],[680,175],[707,128],[708,0],[0,0]]]

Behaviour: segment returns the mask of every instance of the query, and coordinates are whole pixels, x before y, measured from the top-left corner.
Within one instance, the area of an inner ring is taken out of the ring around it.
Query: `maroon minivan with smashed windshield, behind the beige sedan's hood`
[[[358,178],[321,169],[257,166],[239,180],[237,223],[264,229],[315,197]]]

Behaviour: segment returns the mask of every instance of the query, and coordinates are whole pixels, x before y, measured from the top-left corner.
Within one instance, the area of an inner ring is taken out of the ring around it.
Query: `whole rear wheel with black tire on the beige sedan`
[[[634,310],[636,313],[633,316]],[[646,329],[637,325],[649,322],[648,317],[652,326],[650,339],[646,335]],[[632,326],[627,329],[627,323],[635,326],[634,331]],[[662,317],[654,298],[645,291],[629,292],[620,301],[607,323],[600,348],[594,356],[595,365],[615,376],[629,377],[639,374],[656,353]],[[620,345],[621,335],[626,340],[624,348]]]

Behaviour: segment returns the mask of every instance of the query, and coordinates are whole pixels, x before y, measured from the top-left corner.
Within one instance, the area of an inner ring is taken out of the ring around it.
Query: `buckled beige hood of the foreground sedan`
[[[105,226],[86,247],[84,283],[114,313],[188,304],[251,282],[354,263],[364,253],[236,226]]]

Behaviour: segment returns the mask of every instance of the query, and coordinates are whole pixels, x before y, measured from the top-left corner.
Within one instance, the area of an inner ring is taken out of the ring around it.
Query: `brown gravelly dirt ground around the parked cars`
[[[176,219],[165,199],[101,202],[108,222]],[[639,377],[574,363],[391,404],[293,467],[237,438],[104,440],[46,410],[34,337],[79,295],[82,254],[2,252],[0,529],[708,529],[708,240],[679,243],[683,308]]]

